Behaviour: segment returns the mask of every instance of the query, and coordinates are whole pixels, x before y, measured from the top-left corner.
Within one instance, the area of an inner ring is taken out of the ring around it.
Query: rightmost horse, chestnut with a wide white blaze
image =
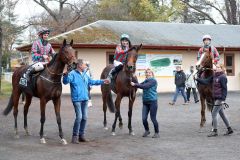
[[[207,84],[197,84],[197,89],[200,94],[201,101],[201,122],[200,128],[202,128],[206,122],[205,110],[206,104],[209,111],[213,109],[213,84],[211,78],[213,76],[213,55],[211,54],[210,49],[206,49],[199,61],[197,62],[197,73],[201,78],[208,79]]]

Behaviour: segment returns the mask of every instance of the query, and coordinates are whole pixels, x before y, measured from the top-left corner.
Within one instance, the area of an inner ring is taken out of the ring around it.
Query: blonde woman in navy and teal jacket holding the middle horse
[[[155,134],[152,138],[159,138],[159,128],[158,128],[158,121],[157,121],[157,81],[154,78],[153,71],[151,69],[146,69],[145,71],[146,79],[138,84],[131,82],[132,86],[137,88],[143,89],[143,108],[142,108],[142,122],[145,128],[145,132],[143,137],[147,137],[150,134],[149,127],[148,127],[148,114],[150,112],[150,117],[153,122]]]

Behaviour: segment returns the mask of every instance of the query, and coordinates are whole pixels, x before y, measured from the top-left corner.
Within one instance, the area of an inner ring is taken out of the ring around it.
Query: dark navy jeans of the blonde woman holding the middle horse
[[[158,128],[158,122],[157,122],[157,109],[158,109],[158,104],[157,100],[155,101],[149,101],[149,102],[143,102],[143,108],[142,108],[142,122],[143,126],[146,131],[149,131],[148,127],[148,113],[150,112],[150,117],[154,126],[155,133],[159,133],[159,128]]]

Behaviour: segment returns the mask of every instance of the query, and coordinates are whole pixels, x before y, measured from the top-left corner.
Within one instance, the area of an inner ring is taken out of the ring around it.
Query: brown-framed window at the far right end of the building
[[[224,63],[226,66],[226,71],[228,76],[234,76],[235,75],[235,63],[234,63],[234,54],[225,54],[224,55]]]

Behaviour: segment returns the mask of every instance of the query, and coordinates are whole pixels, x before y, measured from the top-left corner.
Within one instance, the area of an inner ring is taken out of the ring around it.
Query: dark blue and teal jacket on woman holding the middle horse
[[[145,79],[140,84],[135,84],[137,88],[143,89],[143,102],[157,100],[157,81],[154,78]]]

